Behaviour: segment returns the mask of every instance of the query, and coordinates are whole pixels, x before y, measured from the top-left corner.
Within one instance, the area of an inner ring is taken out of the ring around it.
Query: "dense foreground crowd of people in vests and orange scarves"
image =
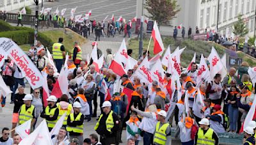
[[[58,84],[66,56],[62,42],[63,38],[60,38],[52,46],[56,69],[50,63],[51,58],[46,57],[47,50],[39,41],[36,46],[31,46],[28,53],[35,66],[47,75],[50,94]],[[92,43],[92,47],[95,45],[97,43]],[[108,55],[104,65],[97,70],[99,67],[95,66],[92,59],[82,59],[82,50],[75,42],[72,55],[67,61],[68,93],[60,97],[49,96],[46,99],[47,106],[44,106],[45,100],[42,99],[42,88],[31,89],[31,93],[24,92],[25,76],[8,57],[1,67],[1,74],[13,92],[12,129],[31,119],[31,130],[34,130],[40,117],[47,121],[51,132],[61,116],[67,113],[59,134],[52,137],[54,144],[119,144],[122,142],[123,130],[126,130],[127,144],[138,144],[142,140],[146,145],[169,144],[171,127],[177,127],[175,137],[179,137],[182,144],[219,144],[218,134],[236,134],[239,131],[244,132],[243,144],[255,144],[256,122],[250,121],[246,128],[242,125],[255,96],[247,62],[243,62],[237,69],[231,67],[227,76],[216,74],[214,80],[204,80],[200,84],[196,84],[198,66],[195,62],[191,63],[191,69],[180,75],[182,97],[178,100],[178,83],[175,82],[175,91],[171,89],[172,74],[165,73],[166,91],[156,80],[152,84],[141,83],[141,79],[133,75],[142,60],[147,58],[147,51],[143,52],[138,64],[122,76],[108,69],[113,54],[111,49],[106,51]],[[101,50],[97,48],[98,59],[101,55]],[[127,55],[132,57],[132,50],[127,50]],[[103,85],[107,86],[107,92]],[[128,90],[128,93],[124,90]],[[198,109],[202,116],[192,109],[199,96],[204,102],[204,107]],[[2,106],[5,99],[1,97]],[[175,104],[170,115],[166,110],[169,102]],[[97,112],[98,103],[100,113]],[[186,103],[189,108],[186,108]],[[91,121],[92,117],[97,118],[94,129],[100,138],[97,134],[90,134],[90,139],[83,139],[83,134],[86,134],[84,123]],[[8,137],[11,131],[12,138]],[[19,144],[19,134],[13,130],[3,128],[2,134],[0,144]]]

